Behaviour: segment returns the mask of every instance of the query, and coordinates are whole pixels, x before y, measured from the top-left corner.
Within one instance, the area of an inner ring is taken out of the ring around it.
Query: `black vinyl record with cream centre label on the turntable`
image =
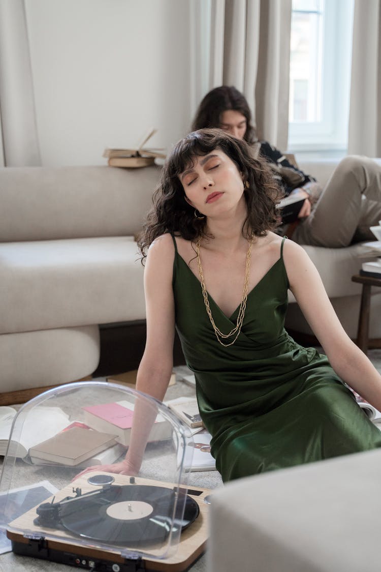
[[[113,484],[53,505],[43,503],[37,509],[36,523],[106,543],[162,543],[171,527],[174,531],[183,529],[199,513],[198,504],[187,496],[183,518],[173,518],[175,498],[171,488]]]

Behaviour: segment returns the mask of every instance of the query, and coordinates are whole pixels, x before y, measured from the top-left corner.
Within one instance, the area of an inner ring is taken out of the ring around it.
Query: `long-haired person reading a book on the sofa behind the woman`
[[[331,248],[374,240],[370,227],[381,220],[381,166],[375,161],[344,157],[320,194],[312,177],[291,165],[270,143],[258,141],[247,100],[232,86],[212,89],[200,102],[192,130],[205,127],[219,127],[247,141],[254,155],[260,154],[276,166],[286,195],[298,189],[306,197],[292,240]]]

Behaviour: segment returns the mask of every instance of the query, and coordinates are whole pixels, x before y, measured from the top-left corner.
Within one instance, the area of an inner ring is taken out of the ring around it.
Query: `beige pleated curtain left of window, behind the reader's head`
[[[291,0],[210,0],[209,81],[234,85],[250,104],[258,137],[286,150]]]

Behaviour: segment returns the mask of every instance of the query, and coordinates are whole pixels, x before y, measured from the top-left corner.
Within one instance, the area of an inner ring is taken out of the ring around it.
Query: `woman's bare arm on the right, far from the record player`
[[[347,336],[306,251],[287,240],[283,260],[291,292],[336,374],[381,411],[381,375]]]

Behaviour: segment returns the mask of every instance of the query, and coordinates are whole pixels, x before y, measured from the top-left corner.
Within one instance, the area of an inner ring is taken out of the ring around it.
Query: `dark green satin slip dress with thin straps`
[[[229,347],[216,339],[200,282],[174,243],[176,327],[224,482],[381,446],[381,431],[327,357],[284,329],[284,239],[279,259],[248,293],[242,329]],[[229,332],[239,308],[227,317],[211,296],[209,302],[217,327]]]

